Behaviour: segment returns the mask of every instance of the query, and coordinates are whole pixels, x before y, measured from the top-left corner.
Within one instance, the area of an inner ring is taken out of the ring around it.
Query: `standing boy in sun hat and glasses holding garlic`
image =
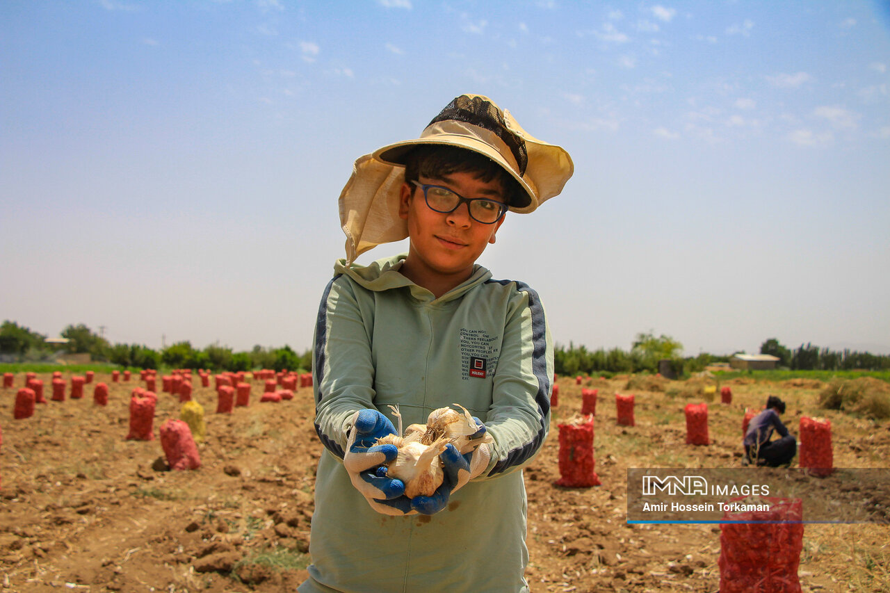
[[[340,196],[347,258],[316,325],[325,451],[299,590],[528,590],[520,470],[549,428],[553,346],[537,294],[475,261],[507,209],[533,211],[572,169],[565,150],[480,95],[457,97],[417,140],[356,161]],[[407,255],[352,264],[405,237]],[[382,467],[395,446],[375,445],[396,432],[390,406],[409,426],[453,402],[480,428],[441,453],[433,495],[409,499]]]

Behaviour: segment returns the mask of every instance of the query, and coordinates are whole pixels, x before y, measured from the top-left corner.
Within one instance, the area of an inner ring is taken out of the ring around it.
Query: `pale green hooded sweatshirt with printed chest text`
[[[527,591],[522,467],[550,424],[553,345],[537,293],[514,280],[471,277],[436,298],[403,276],[405,256],[344,260],[315,329],[315,428],[324,444],[315,483],[310,579],[301,591]],[[482,474],[433,516],[385,516],[343,466],[345,425],[375,408],[398,426],[425,424],[460,403],[494,439]]]

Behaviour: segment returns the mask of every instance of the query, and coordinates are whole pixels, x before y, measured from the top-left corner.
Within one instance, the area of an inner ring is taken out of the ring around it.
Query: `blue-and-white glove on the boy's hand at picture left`
[[[409,514],[411,500],[405,496],[405,484],[388,477],[384,467],[399,450],[393,444],[374,444],[378,438],[395,435],[395,426],[379,411],[370,409],[355,412],[346,426],[349,436],[343,465],[352,485],[378,513]]]

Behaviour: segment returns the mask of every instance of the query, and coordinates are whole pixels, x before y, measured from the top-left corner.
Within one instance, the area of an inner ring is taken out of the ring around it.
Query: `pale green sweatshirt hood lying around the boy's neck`
[[[335,275],[345,274],[352,280],[355,280],[362,288],[367,288],[368,290],[381,291],[407,287],[410,289],[411,295],[417,300],[424,302],[437,301],[439,303],[445,303],[463,296],[470,288],[491,278],[489,270],[479,264],[475,264],[473,265],[473,273],[467,280],[458,284],[455,288],[451,288],[437,299],[432,292],[417,286],[417,284],[399,272],[401,264],[404,263],[407,256],[408,254],[403,253],[398,256],[378,259],[368,265],[352,264],[348,266],[345,258],[342,258],[338,259],[336,264],[334,264],[334,273]]]

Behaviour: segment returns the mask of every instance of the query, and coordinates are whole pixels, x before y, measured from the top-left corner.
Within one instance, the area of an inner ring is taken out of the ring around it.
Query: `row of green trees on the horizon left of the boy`
[[[162,364],[173,369],[233,372],[254,369],[312,369],[312,350],[298,354],[289,345],[255,345],[249,351],[234,352],[228,346],[211,344],[199,349],[189,341],[182,341],[161,350],[153,350],[146,345],[110,344],[83,323],[67,326],[61,331],[61,337],[67,338],[68,344],[47,344],[46,336],[7,320],[0,326],[0,354],[10,361],[36,362],[52,361],[58,353],[89,353],[93,361],[106,361],[136,369],[158,369]]]

